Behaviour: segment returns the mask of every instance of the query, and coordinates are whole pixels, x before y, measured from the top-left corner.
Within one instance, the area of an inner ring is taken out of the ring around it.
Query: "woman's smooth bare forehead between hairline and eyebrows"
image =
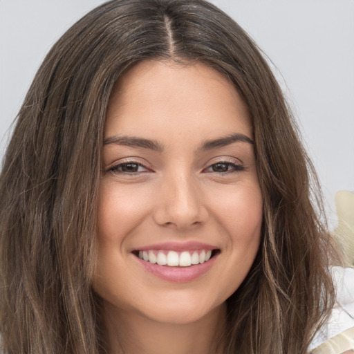
[[[109,102],[105,138],[117,133],[198,133],[252,138],[248,108],[227,78],[203,63],[145,60],[118,83]],[[212,138],[212,136],[207,137]]]

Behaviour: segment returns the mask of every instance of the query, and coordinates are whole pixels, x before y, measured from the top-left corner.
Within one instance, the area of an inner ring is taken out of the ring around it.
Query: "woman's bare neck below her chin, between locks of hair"
[[[109,354],[221,354],[226,306],[187,324],[156,322],[139,313],[104,305]]]

